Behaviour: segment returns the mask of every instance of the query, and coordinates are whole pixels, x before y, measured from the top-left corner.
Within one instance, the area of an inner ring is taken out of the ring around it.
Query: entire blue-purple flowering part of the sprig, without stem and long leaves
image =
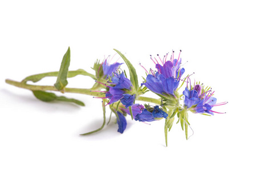
[[[108,64],[107,60],[102,63],[104,75],[109,80],[105,84],[101,83],[106,89],[106,91],[101,91],[105,93],[105,97],[101,98],[109,99],[107,104],[114,104],[117,101],[122,103],[119,106],[119,103],[112,106],[112,111],[117,116],[118,132],[124,132],[127,125],[124,116],[127,114],[131,115],[131,112],[133,118],[141,122],[151,122],[163,118],[168,120],[167,122],[170,122],[169,120],[173,120],[173,117],[177,114],[182,129],[184,124],[189,124],[188,111],[193,113],[209,113],[210,115],[220,113],[213,111],[212,108],[226,103],[216,104],[217,99],[213,97],[214,92],[212,92],[212,89],[208,87],[204,88],[202,84],[196,83],[192,86],[189,78],[190,75],[182,79],[185,69],[181,67],[180,54],[178,55],[178,59],[173,58],[174,51],[170,57],[166,54],[162,59],[157,55],[159,60],[151,56],[151,60],[155,64],[157,71],[152,69],[147,71],[142,66],[147,72],[147,78],[144,83],[141,83],[141,87],[147,87],[150,91],[159,95],[162,101],[165,102],[155,106],[134,104],[136,95],[140,95],[140,93],[133,93],[131,80],[125,76],[124,72],[117,70],[121,63]],[[185,90],[182,93],[184,95],[183,107],[180,104],[182,95],[177,92],[180,82],[182,82],[182,85],[186,83]],[[128,107],[131,108],[128,109]]]

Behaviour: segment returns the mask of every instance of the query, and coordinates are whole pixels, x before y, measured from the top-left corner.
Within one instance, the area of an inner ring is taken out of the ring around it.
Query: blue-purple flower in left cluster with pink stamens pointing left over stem
[[[106,84],[98,82],[106,86],[107,89],[107,91],[97,91],[105,93],[105,97],[101,97],[101,99],[110,99],[108,104],[121,100],[121,103],[124,104],[126,108],[131,106],[135,100],[135,94],[129,94],[132,90],[131,81],[125,77],[124,72],[121,74],[113,72],[112,75],[113,76],[109,78],[109,82]]]

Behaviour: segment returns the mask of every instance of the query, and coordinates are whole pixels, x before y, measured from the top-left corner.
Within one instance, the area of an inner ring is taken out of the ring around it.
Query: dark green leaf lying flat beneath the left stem
[[[58,101],[67,101],[67,102],[72,102],[78,105],[82,105],[85,106],[84,103],[82,101],[76,100],[76,99],[69,99],[67,97],[64,96],[56,96],[55,93],[50,93],[50,92],[45,92],[45,91],[32,91],[35,95],[35,97],[39,100],[42,101],[54,101],[54,100],[58,100]]]

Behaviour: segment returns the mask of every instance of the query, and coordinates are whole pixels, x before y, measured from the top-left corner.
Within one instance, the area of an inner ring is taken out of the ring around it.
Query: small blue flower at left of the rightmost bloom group
[[[184,104],[187,108],[200,103],[201,99],[198,97],[198,94],[194,89],[189,91],[188,87],[185,88],[183,95],[185,96]]]

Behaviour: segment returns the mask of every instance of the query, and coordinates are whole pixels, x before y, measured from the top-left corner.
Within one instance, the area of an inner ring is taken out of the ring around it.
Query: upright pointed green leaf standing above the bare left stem
[[[67,74],[68,74],[68,67],[70,66],[70,47],[68,47],[68,50],[66,54],[64,54],[62,59],[62,64],[60,65],[60,70],[58,74],[58,78],[56,80],[56,83],[54,84],[54,87],[62,90],[64,87],[67,86]]]

